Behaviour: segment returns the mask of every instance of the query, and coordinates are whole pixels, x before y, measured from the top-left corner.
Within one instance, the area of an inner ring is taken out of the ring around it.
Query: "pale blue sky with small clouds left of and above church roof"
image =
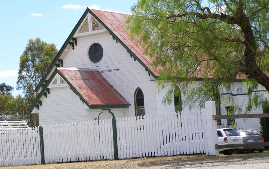
[[[0,0],[0,83],[16,90],[20,56],[30,38],[54,43],[59,50],[86,7],[130,12],[136,0]]]

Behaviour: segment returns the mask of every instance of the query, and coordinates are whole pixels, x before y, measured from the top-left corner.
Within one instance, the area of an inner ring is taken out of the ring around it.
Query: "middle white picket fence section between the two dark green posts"
[[[45,162],[114,159],[111,119],[45,125]]]

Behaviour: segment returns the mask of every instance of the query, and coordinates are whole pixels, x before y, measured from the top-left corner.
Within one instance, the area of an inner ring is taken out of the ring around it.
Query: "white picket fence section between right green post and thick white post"
[[[119,158],[204,153],[200,111],[118,118]]]

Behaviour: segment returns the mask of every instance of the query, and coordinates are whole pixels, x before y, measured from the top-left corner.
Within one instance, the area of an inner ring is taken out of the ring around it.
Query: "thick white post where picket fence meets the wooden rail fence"
[[[205,139],[206,155],[219,156],[219,150],[216,150],[215,145],[218,143],[217,123],[212,119],[216,115],[215,101],[205,102],[205,109],[202,112],[203,133]]]

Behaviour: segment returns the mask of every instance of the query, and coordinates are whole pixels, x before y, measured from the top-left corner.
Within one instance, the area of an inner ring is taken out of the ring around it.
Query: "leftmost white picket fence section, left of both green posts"
[[[39,127],[1,130],[0,166],[40,164]]]

